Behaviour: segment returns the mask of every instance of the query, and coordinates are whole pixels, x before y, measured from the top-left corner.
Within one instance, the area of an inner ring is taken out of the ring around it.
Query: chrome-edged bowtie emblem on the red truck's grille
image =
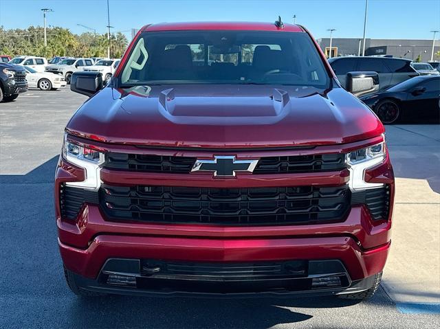
[[[214,160],[195,161],[191,172],[212,172],[214,177],[234,177],[235,172],[253,172],[258,160],[236,160],[233,155],[217,155]]]

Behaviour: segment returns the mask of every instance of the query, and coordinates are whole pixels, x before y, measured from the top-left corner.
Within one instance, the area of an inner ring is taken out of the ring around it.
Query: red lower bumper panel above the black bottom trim
[[[351,238],[281,238],[210,240],[141,236],[98,236],[89,248],[76,249],[59,242],[68,269],[96,278],[108,258],[153,258],[194,262],[258,262],[267,260],[339,259],[352,280],[380,272],[388,256],[387,243],[362,252]]]

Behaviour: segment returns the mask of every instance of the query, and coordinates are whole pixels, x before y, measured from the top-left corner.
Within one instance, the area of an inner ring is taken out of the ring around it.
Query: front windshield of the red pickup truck
[[[292,84],[326,88],[329,75],[302,32],[144,32],[121,87],[140,84]]]

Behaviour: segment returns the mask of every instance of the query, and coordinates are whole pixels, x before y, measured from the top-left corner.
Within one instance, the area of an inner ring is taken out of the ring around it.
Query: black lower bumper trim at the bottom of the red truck
[[[365,291],[373,282],[374,277],[352,282],[339,260],[215,264],[111,259],[97,280],[76,275],[76,284],[88,291],[164,297],[337,295]]]

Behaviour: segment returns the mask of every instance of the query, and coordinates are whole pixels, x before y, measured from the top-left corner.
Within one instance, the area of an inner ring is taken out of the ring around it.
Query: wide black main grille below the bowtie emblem
[[[294,225],[344,220],[349,188],[184,188],[111,186],[100,189],[107,218],[159,223]]]

